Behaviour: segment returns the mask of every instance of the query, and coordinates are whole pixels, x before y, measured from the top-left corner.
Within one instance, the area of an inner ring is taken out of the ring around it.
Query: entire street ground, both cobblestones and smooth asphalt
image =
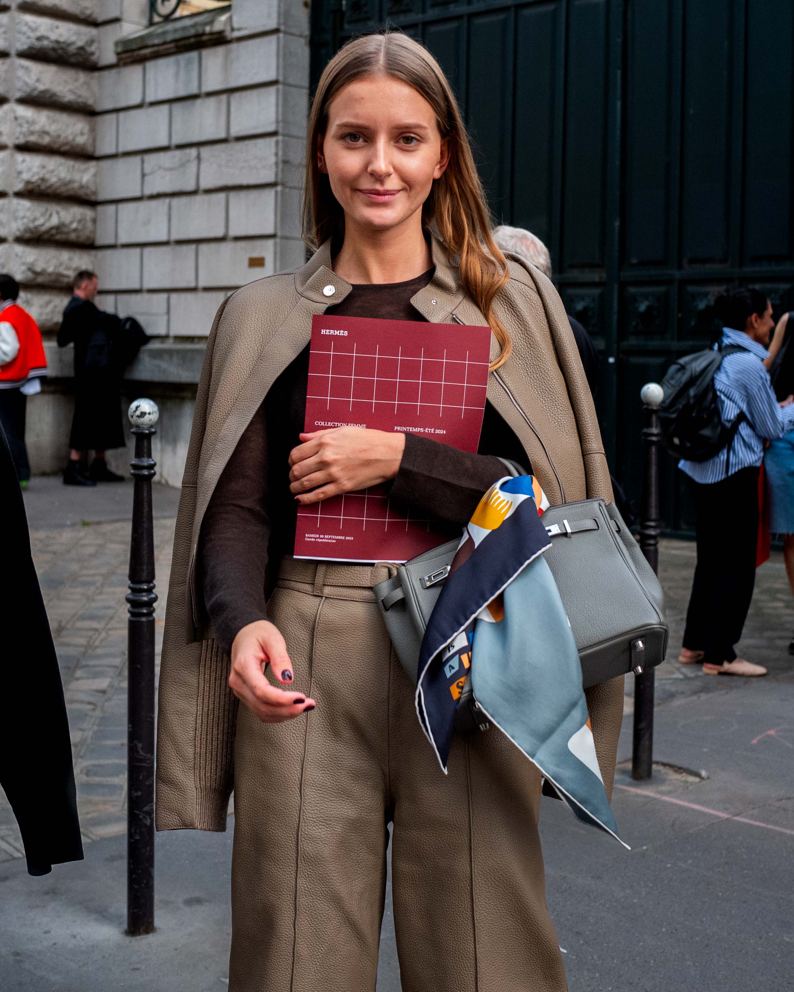
[[[3,992],[225,987],[231,831],[159,835],[158,932],[136,940],[122,934],[131,488],[97,487],[84,497],[79,491],[79,499],[67,490],[66,499],[59,480],[34,480],[26,493],[88,843],[85,861],[30,878],[0,793]],[[155,487],[158,652],[177,496]],[[660,558],[671,642],[657,670],[655,755],[710,777],[660,766],[637,791],[626,764],[627,715],[613,808],[631,853],[544,801],[549,906],[571,992],[794,989],[794,659],[786,651],[794,602],[782,558],[775,554],[758,570],[740,645],[770,669],[754,682],[677,664],[695,547],[664,541]],[[378,992],[399,988],[388,903]]]

